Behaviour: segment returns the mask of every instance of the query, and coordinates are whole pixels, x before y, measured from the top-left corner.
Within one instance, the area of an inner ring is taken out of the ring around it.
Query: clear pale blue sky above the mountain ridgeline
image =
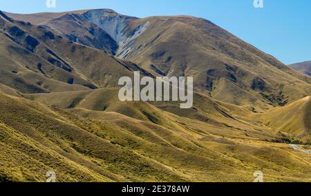
[[[208,19],[285,64],[311,60],[311,1],[263,0],[0,0],[6,12],[62,12],[111,8],[135,17],[187,14]]]

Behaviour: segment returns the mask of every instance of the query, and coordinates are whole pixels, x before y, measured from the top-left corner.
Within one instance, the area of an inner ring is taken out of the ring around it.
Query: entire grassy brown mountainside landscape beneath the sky
[[[118,99],[194,76],[194,106]],[[205,19],[0,12],[0,182],[310,182],[310,77]]]

